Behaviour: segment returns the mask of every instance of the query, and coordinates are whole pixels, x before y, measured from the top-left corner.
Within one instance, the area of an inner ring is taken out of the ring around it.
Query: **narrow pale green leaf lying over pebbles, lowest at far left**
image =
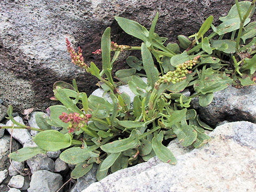
[[[8,155],[13,161],[23,162],[37,154],[46,154],[46,150],[39,147],[23,147]]]

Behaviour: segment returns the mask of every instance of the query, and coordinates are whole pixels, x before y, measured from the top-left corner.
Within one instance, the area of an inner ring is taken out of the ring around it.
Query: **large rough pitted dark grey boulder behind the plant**
[[[111,27],[118,44],[141,43],[118,27],[115,15],[149,28],[159,11],[157,33],[176,41],[181,31],[196,33],[209,15],[217,21],[233,4],[233,0],[0,1],[0,98],[4,105],[12,104],[20,111],[45,108],[53,103],[49,100],[52,84],[72,78],[90,94],[95,78],[71,64],[65,37],[82,47],[85,62],[95,60],[100,66],[99,57],[91,52],[99,48],[106,27]],[[117,69],[124,68],[121,63]]]

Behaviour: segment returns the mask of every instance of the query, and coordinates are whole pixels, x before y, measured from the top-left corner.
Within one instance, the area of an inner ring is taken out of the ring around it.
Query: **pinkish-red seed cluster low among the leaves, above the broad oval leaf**
[[[92,117],[91,114],[78,114],[78,113],[62,113],[59,116],[62,122],[68,123],[68,132],[73,133],[74,131],[78,131],[81,127],[86,125],[89,122],[89,119]]]

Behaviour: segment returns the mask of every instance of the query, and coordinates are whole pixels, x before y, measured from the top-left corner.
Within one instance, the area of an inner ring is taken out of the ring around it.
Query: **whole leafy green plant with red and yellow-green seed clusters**
[[[9,118],[17,125],[13,128],[39,133],[34,137],[38,147],[19,149],[9,157],[25,161],[46,151],[62,150],[60,159],[76,165],[71,172],[74,179],[90,171],[94,163],[99,164],[98,180],[154,156],[175,164],[175,157],[163,141],[178,138],[182,146],[198,148],[210,140],[204,130],[212,128],[190,107],[191,98],[199,97],[199,104],[204,107],[211,103],[213,92],[230,84],[255,85],[256,22],[250,22],[255,1],[236,1],[227,16],[220,18],[222,23],[218,27],[213,26],[210,16],[198,33],[189,38],[179,35],[179,45],[165,45],[166,38],[154,32],[158,13],[149,30],[138,22],[115,17],[127,34],[143,43],[128,46],[111,42],[108,27],[101,39],[101,49],[93,52],[101,54],[102,70],[93,62],[87,65],[82,50],[76,52],[66,39],[72,62],[99,79],[111,102],[94,95],[87,97],[78,91],[75,80],[72,85],[56,82],[53,99],[62,105],[49,107],[50,116],[36,114],[40,129],[15,122],[10,106]],[[212,32],[205,36],[208,31]],[[142,61],[128,57],[126,62],[131,68],[121,69],[113,77],[113,63],[126,50],[140,50]],[[142,78],[145,74],[147,83]],[[118,90],[120,84],[129,85],[136,95],[134,99]],[[182,94],[186,88],[194,94],[190,97]],[[62,129],[52,130],[52,126]]]

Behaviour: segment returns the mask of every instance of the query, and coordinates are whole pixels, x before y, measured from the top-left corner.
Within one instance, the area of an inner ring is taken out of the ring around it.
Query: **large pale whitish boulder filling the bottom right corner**
[[[254,191],[255,134],[256,124],[250,122],[223,124],[210,133],[212,140],[204,147],[178,156],[176,165],[141,163],[110,174],[82,192]]]

